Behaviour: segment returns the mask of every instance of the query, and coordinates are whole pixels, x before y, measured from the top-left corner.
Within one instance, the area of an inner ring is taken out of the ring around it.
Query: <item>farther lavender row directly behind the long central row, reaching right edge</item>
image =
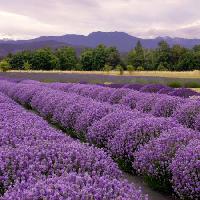
[[[155,117],[172,117],[186,128],[200,131],[200,101],[163,94],[133,92],[129,89],[102,88],[96,85],[51,83],[48,87],[91,97],[100,102],[119,104]]]

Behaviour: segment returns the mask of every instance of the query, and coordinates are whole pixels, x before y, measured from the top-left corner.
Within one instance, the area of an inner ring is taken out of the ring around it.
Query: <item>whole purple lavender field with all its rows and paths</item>
[[[6,77],[15,79],[0,80],[4,200],[200,198],[198,92],[133,76]],[[70,83],[80,80],[117,84]]]

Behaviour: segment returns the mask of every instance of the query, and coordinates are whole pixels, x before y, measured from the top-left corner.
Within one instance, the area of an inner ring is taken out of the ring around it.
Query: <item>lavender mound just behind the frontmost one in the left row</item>
[[[15,148],[0,148],[0,182],[4,190],[16,181],[45,178],[68,172],[120,176],[116,164],[103,151],[78,142],[31,141]]]

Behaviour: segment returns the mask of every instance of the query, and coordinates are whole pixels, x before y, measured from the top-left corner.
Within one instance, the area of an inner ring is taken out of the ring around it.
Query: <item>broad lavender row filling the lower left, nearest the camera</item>
[[[1,93],[0,127],[0,199],[147,199],[119,179],[105,152],[54,130]]]

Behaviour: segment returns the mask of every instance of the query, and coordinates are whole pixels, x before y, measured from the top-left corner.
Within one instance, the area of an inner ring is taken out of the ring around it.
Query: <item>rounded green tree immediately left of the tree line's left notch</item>
[[[57,49],[55,54],[59,59],[60,70],[72,70],[76,67],[77,57],[74,48],[63,47]]]

